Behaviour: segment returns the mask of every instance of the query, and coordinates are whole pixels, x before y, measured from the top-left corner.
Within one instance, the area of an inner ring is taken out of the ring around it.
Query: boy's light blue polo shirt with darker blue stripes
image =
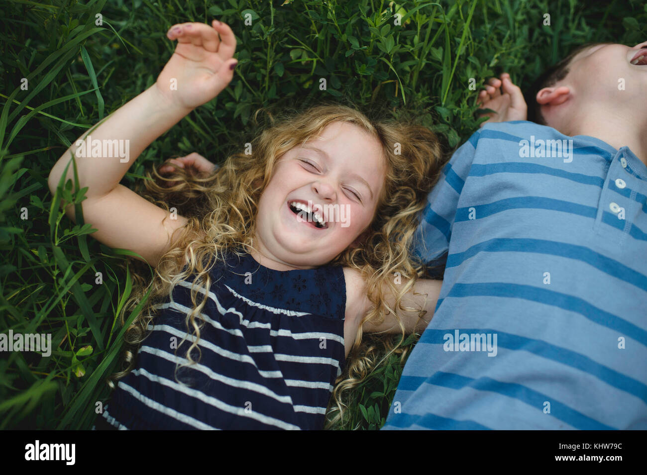
[[[647,167],[628,147],[485,125],[421,221],[443,287],[385,429],[647,428]]]

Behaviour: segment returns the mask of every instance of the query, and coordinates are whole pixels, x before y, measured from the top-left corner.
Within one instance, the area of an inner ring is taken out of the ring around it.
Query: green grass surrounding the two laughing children
[[[144,151],[122,180],[131,188],[173,154],[197,151],[221,162],[250,141],[259,107],[320,100],[407,109],[449,153],[477,129],[470,78],[479,89],[507,71],[523,89],[575,45],[647,39],[639,1],[406,1],[402,25],[384,1],[285,3],[0,5],[0,333],[51,333],[56,349],[50,357],[2,354],[0,429],[89,428],[97,401],[108,396],[104,379],[122,336],[116,315],[132,286],[127,253],[88,238],[91,224],[80,215],[74,226],[58,204],[61,196],[79,204],[83,190],[61,184],[52,196],[47,176],[72,140],[153,84],[174,48],[165,36],[173,23],[225,21],[237,35],[239,65],[221,96]],[[542,25],[545,13],[551,26]],[[391,361],[358,388],[344,428],[381,427],[401,371]]]

